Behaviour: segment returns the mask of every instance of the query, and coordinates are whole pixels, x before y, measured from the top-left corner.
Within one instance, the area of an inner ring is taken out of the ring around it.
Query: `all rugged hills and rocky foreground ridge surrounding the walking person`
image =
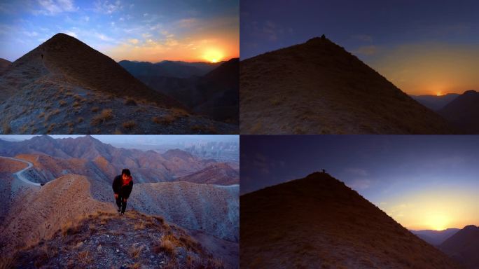
[[[163,157],[155,151],[116,149],[89,136],[0,140],[0,149],[1,155],[28,152],[0,158],[2,266],[88,267],[101,261],[125,268],[237,268],[238,185],[158,182],[164,179],[143,176],[160,167],[169,177],[194,173],[214,160],[179,150]],[[25,169],[23,162],[32,167],[15,173]],[[119,174],[121,168],[110,162],[124,162],[121,167],[130,168],[135,182],[123,219],[114,205],[113,178],[105,170]],[[42,186],[35,184],[37,177]],[[146,179],[157,183],[141,183]]]

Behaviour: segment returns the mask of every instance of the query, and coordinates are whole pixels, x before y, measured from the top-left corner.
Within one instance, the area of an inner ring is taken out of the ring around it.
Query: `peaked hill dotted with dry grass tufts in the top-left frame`
[[[231,133],[237,127],[148,88],[66,34],[15,60],[0,77],[1,133]]]

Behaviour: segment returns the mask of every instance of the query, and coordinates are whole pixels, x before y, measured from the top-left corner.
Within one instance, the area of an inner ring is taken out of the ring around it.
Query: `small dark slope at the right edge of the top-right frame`
[[[479,92],[468,90],[438,113],[468,134],[479,134]]]

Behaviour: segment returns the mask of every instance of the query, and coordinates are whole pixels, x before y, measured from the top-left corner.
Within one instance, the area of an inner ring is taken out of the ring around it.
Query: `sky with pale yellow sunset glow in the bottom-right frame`
[[[478,136],[242,136],[241,194],[325,169],[413,230],[479,226]]]

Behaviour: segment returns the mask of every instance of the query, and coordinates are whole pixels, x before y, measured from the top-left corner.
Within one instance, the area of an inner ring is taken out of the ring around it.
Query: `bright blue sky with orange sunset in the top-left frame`
[[[120,60],[221,61],[240,55],[238,0],[0,2],[0,57],[13,62],[62,32]]]

